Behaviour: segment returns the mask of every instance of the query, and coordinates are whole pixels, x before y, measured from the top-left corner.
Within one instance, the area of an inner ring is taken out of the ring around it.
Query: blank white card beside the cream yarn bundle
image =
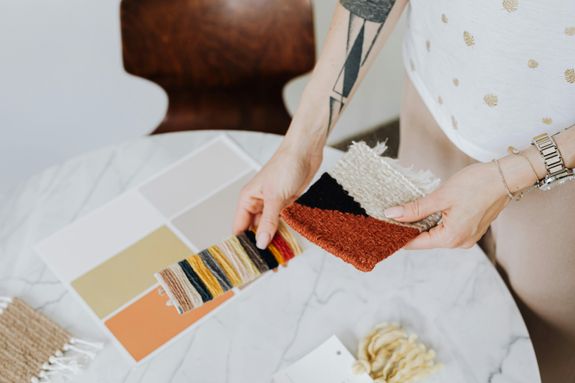
[[[355,358],[337,336],[273,377],[274,383],[373,383],[368,374],[355,375]]]

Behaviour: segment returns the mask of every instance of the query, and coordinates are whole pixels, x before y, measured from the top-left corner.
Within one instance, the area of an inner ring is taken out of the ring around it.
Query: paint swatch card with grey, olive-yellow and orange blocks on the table
[[[259,165],[222,135],[37,246],[42,259],[140,362],[239,292],[184,315],[154,273],[229,237]]]

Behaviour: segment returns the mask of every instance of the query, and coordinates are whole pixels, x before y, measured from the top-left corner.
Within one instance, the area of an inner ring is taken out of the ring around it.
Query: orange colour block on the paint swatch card
[[[168,298],[161,296],[159,290],[150,291],[105,322],[106,327],[138,362],[234,295],[230,290],[180,315],[173,307],[166,306]]]

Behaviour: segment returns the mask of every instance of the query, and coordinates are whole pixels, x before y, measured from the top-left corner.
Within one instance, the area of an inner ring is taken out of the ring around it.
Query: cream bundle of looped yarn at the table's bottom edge
[[[441,368],[435,352],[397,324],[382,323],[360,342],[357,374],[368,373],[375,383],[412,383]]]

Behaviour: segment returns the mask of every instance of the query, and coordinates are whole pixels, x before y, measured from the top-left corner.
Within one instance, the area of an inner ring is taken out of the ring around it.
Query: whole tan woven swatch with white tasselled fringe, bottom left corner
[[[78,373],[101,347],[73,338],[20,299],[0,297],[0,383],[49,383]]]

